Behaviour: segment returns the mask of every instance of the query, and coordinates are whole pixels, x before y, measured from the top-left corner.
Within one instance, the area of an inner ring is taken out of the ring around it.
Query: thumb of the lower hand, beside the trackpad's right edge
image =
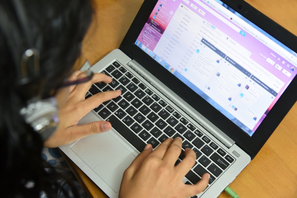
[[[146,157],[149,156],[149,154],[151,154],[152,151],[153,151],[153,147],[151,146],[151,144],[147,144],[144,147],[143,151],[133,160],[131,165],[125,171],[124,174],[125,174],[125,177],[127,177],[126,179],[130,179],[135,175],[135,173],[142,165],[143,161],[146,159]]]

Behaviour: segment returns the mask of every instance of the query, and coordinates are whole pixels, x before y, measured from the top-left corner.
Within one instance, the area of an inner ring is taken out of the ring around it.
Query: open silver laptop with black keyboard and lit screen
[[[109,197],[147,143],[181,137],[210,173],[194,197],[217,197],[255,157],[296,102],[297,38],[241,0],[145,0],[119,49],[92,66],[113,77],[86,98],[121,89],[79,124],[113,129],[60,149]]]

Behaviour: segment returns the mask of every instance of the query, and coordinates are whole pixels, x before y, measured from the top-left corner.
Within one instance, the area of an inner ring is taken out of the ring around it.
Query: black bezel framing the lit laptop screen
[[[251,5],[247,4],[245,1],[221,1],[234,9],[236,12],[243,15],[255,25],[261,27],[264,31],[285,44],[293,51],[297,51],[297,37],[295,35],[285,30],[285,28],[283,28],[281,25],[275,23],[273,20],[253,8]],[[270,135],[277,128],[282,119],[285,117],[290,108],[296,102],[297,77],[293,79],[291,84],[287,87],[277,103],[257,128],[254,135],[250,137],[233,122],[227,119],[223,114],[217,111],[217,109],[212,107],[206,100],[197,95],[185,84],[181,83],[179,79],[170,74],[170,72],[160,66],[159,63],[157,63],[146,52],[134,44],[156,3],[157,0],[145,0],[143,2],[143,5],[141,6],[137,16],[135,17],[135,20],[129,28],[119,49],[142,65],[173,92],[181,95],[181,98],[186,100],[189,105],[195,108],[206,119],[208,119],[211,123],[213,123],[230,138],[232,138],[236,144],[245,152],[247,152],[253,159],[268,140]],[[238,5],[241,5],[241,9],[238,8]],[[169,82],[166,79],[172,80]]]

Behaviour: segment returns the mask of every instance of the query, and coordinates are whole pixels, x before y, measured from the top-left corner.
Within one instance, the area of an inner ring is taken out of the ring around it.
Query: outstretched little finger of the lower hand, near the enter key
[[[202,175],[202,179],[196,184],[194,185],[185,184],[186,185],[186,190],[184,191],[186,193],[185,197],[191,197],[204,191],[208,185],[209,176],[210,175],[208,173],[204,173]]]

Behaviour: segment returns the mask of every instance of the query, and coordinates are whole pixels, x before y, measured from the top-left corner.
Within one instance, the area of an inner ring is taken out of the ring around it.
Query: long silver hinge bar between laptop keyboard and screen
[[[214,124],[209,122],[205,117],[203,117],[198,111],[192,108],[188,103],[186,103],[182,97],[171,91],[167,86],[165,86],[156,77],[151,75],[149,71],[143,68],[135,60],[130,60],[127,65],[131,67],[135,72],[142,76],[146,81],[148,81],[153,87],[155,87],[159,92],[163,93],[169,100],[176,104],[180,109],[187,113],[192,119],[199,123],[205,130],[210,132],[214,137],[216,137],[220,142],[222,142],[226,147],[230,148],[235,141],[229,138],[224,132],[219,130]],[[183,102],[181,102],[183,101]]]

